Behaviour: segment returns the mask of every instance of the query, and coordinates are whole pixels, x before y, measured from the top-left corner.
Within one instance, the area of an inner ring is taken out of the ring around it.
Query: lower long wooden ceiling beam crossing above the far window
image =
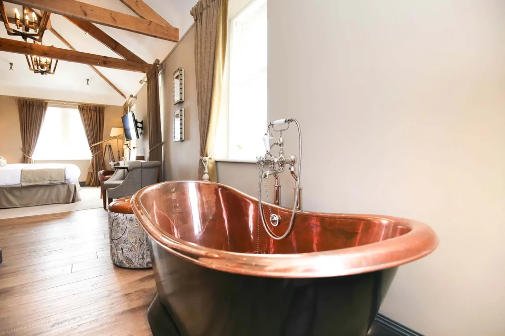
[[[115,59],[112,57],[95,55],[87,52],[67,50],[51,46],[34,43],[21,42],[8,38],[0,38],[0,51],[36,55],[50,59],[82,63],[92,66],[136,71],[146,73],[149,65],[147,63],[137,63],[129,60]]]

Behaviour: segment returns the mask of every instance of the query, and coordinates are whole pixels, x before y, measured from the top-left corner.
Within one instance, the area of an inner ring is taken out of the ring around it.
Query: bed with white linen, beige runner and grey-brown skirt
[[[0,167],[0,208],[80,201],[78,166],[14,163]]]

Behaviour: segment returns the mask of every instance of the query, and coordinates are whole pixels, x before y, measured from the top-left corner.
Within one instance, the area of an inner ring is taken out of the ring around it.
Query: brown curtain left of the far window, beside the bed
[[[46,110],[47,102],[43,100],[19,99],[19,128],[23,146],[21,148],[23,163],[33,163],[31,156],[37,144]]]

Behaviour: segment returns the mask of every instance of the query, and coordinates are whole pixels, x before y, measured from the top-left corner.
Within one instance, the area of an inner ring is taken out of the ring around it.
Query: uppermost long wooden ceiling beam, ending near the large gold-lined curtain
[[[153,21],[81,3],[76,0],[9,0],[9,2],[147,36],[174,42],[179,41],[178,28],[165,27]]]

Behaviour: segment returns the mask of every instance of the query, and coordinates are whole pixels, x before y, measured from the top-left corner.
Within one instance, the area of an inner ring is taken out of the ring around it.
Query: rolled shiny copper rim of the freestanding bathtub
[[[338,250],[293,254],[252,254],[229,252],[199,246],[159,229],[151,221],[139,198],[149,189],[163,184],[199,183],[212,184],[229,189],[245,198],[256,200],[230,186],[208,181],[177,180],[160,182],[137,191],[131,199],[135,216],[147,235],[164,250],[192,263],[229,273],[285,278],[331,277],[367,273],[397,267],[420,259],[438,246],[435,232],[425,223],[395,216],[373,214],[321,213],[303,211],[315,215],[341,215],[361,219],[386,219],[409,227],[410,232],[383,241]],[[266,202],[263,202],[266,204]],[[274,206],[274,205],[272,205]],[[295,222],[296,225],[296,222]]]

